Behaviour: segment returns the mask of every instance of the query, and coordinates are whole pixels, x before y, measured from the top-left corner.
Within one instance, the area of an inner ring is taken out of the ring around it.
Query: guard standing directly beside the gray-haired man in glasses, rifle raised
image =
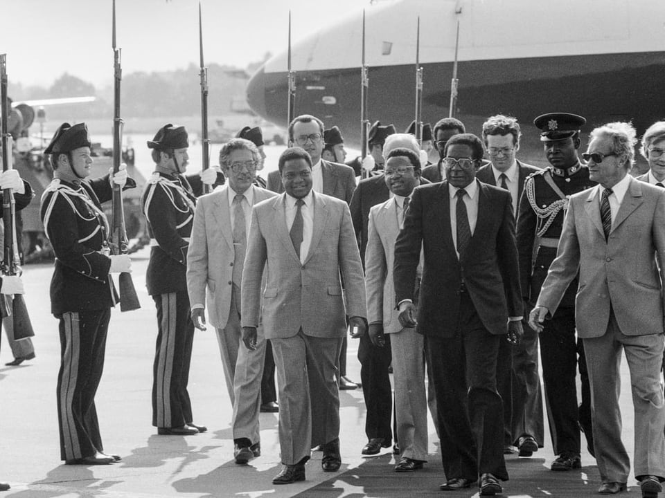
[[[186,262],[201,183],[211,185],[218,173],[209,168],[199,175],[200,180],[198,176],[185,177],[188,147],[184,127],[169,123],[157,131],[148,141],[155,169],[141,196],[152,246],[145,282],[157,306],[159,330],[153,368],[152,425],[161,435],[207,430],[193,423],[187,392],[194,324],[187,295]]]

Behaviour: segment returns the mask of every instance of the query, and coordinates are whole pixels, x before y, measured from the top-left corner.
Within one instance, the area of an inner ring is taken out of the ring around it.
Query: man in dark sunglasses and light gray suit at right
[[[621,351],[635,407],[635,477],[655,498],[665,477],[663,360],[665,192],[632,178],[635,129],[614,122],[594,129],[582,157],[600,185],[574,194],[557,250],[529,323],[542,330],[580,271],[576,326],[584,341],[592,393],[598,492],[626,489],[630,460],[621,442]]]

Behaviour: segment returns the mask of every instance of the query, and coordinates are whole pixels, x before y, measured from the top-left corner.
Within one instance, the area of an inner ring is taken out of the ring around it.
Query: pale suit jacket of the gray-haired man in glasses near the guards
[[[276,196],[254,185],[250,188],[254,190],[254,204]],[[224,185],[199,197],[187,251],[189,302],[206,304],[210,323],[218,329],[223,329],[229,320],[233,255],[229,187]]]

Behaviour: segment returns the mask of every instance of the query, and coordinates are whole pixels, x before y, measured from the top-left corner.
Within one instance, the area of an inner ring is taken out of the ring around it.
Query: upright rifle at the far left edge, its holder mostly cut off
[[[7,100],[7,54],[0,55],[0,99],[2,106],[0,110],[1,124],[1,143],[2,143],[2,171],[6,172],[12,169],[12,137],[8,133],[9,105]],[[19,267],[19,250],[16,240],[15,224],[15,203],[14,192],[12,189],[2,191],[2,221],[4,225],[3,241],[3,275],[21,275]],[[3,294],[0,299],[0,316],[13,317],[14,339],[24,339],[35,335],[33,324],[28,316],[28,308],[23,296],[15,294],[13,296]]]

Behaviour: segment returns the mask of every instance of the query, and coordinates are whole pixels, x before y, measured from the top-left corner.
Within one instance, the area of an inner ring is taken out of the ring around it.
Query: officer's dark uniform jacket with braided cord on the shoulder
[[[517,250],[520,253],[522,295],[532,305],[538,299],[547,270],[556,257],[556,247],[540,246],[538,241],[561,236],[568,208],[568,199],[561,199],[546,181],[548,175],[565,196],[596,185],[589,180],[589,169],[580,163],[566,170],[549,166],[526,178],[517,216]],[[575,306],[577,286],[576,277],[568,286],[560,308]]]

